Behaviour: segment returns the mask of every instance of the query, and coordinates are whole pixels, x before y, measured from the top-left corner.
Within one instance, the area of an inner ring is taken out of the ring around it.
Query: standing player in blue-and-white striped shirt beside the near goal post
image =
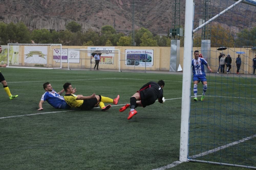
[[[205,75],[205,67],[207,66],[210,72],[212,72],[212,69],[208,65],[207,61],[204,58],[199,57],[199,51],[194,52],[195,58],[192,59],[192,70],[193,70],[193,81],[194,81],[194,101],[197,100],[197,84],[201,81],[203,84],[203,94],[201,97],[201,101],[204,101],[205,99],[205,92],[207,90],[207,81],[206,81],[206,75]]]

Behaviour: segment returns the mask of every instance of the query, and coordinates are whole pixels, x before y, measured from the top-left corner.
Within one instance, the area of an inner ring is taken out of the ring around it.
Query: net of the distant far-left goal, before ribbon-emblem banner
[[[1,63],[7,67],[59,69],[62,67],[61,44],[8,44]]]

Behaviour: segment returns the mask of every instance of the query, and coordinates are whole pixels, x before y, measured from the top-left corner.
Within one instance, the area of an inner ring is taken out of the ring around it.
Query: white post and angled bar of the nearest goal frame
[[[190,114],[190,86],[191,86],[191,56],[193,56],[193,33],[211,23],[214,19],[226,13],[231,8],[239,3],[252,3],[255,6],[256,0],[238,0],[233,5],[229,6],[221,13],[209,19],[204,24],[193,30],[194,21],[194,2],[186,0],[185,4],[185,32],[184,32],[184,63],[183,63],[183,82],[182,82],[182,110],[181,110],[181,126],[180,126],[180,155],[179,161],[189,162],[188,159],[188,144],[189,144],[189,114]],[[203,162],[203,161],[202,161]],[[208,162],[210,163],[210,162]],[[213,163],[213,162],[211,162]],[[237,167],[247,167],[243,165],[225,164]]]

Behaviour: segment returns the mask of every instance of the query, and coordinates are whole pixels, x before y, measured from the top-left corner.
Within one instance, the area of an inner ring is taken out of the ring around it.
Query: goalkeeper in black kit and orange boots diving
[[[159,103],[164,103],[165,99],[163,97],[163,87],[163,80],[159,80],[157,83],[150,81],[147,84],[144,84],[141,89],[130,98],[130,104],[126,104],[125,106],[121,107],[119,111],[123,112],[128,107],[131,107],[129,116],[127,117],[129,120],[137,114],[135,108],[138,106],[146,107],[152,105],[157,99]]]

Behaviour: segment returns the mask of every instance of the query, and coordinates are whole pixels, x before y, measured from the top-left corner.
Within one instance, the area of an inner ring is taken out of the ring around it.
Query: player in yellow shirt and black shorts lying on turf
[[[68,105],[81,110],[91,110],[94,107],[100,106],[101,111],[106,111],[111,107],[111,105],[109,104],[105,106],[104,103],[113,103],[116,105],[119,101],[119,95],[117,95],[117,98],[115,99],[110,99],[94,93],[91,96],[74,95],[72,94],[73,87],[71,86],[71,83],[68,82],[63,85],[63,88],[66,91],[64,99]]]

